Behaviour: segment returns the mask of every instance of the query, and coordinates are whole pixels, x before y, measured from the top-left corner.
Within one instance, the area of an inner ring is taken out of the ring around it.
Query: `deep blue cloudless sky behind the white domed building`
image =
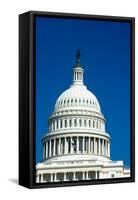
[[[130,165],[130,24],[36,18],[36,162],[58,96],[72,83],[77,49],[84,83],[99,100],[110,134],[111,159]]]

